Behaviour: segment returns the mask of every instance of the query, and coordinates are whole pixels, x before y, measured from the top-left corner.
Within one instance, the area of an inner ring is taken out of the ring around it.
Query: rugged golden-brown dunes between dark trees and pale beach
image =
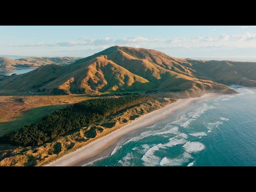
[[[114,115],[107,116],[96,123],[64,136],[55,138],[41,146],[15,147],[0,145],[0,166],[42,166],[86,144],[117,130],[126,124],[176,102],[176,98],[158,98],[143,102]]]

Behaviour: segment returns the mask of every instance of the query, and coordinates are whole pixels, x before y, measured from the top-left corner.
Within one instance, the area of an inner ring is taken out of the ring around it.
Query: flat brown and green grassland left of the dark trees
[[[87,96],[0,96],[0,136],[31,124],[69,104],[90,99]]]

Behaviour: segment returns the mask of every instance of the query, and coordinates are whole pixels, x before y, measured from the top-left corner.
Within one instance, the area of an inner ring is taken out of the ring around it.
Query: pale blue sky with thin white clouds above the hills
[[[256,26],[0,26],[0,55],[86,57],[114,45],[256,62]]]

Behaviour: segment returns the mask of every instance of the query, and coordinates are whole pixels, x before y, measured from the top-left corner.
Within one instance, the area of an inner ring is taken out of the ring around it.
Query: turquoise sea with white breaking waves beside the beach
[[[256,166],[256,89],[192,103],[84,166]]]

